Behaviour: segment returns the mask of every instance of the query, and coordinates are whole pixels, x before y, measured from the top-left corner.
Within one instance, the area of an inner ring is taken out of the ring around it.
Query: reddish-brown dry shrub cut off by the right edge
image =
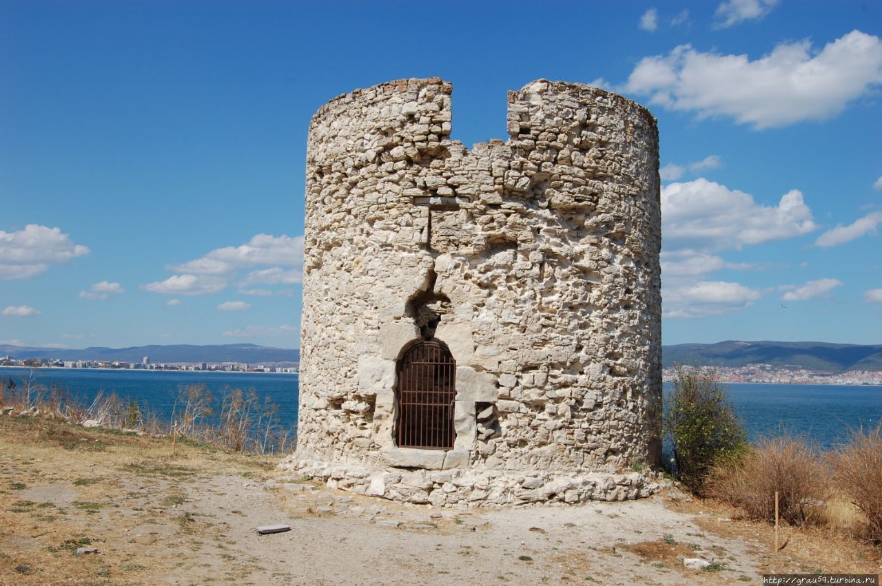
[[[882,543],[882,422],[852,431],[830,462],[836,487],[863,513],[866,537]]]

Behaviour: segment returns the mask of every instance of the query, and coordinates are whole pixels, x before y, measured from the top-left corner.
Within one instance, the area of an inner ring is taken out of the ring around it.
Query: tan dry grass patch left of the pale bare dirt
[[[275,464],[181,443],[173,457],[169,438],[9,416],[0,417],[0,463],[0,584],[156,583],[165,560],[133,544],[131,531],[171,526],[165,538],[187,550],[179,559],[198,561],[190,551],[208,524],[186,516],[188,487],[219,475],[260,478]],[[99,553],[75,557],[80,546]]]

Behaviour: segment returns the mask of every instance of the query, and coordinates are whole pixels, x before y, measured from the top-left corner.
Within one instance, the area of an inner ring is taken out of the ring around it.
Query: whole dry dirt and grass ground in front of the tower
[[[789,545],[772,553],[768,526],[674,489],[431,508],[286,477],[276,462],[181,443],[173,456],[165,439],[2,418],[0,583],[718,584],[882,564],[878,550],[811,530],[783,530]],[[274,523],[291,530],[258,535]]]

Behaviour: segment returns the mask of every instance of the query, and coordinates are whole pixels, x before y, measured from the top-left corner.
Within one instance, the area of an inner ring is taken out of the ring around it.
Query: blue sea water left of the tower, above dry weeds
[[[30,375],[26,368],[0,368],[0,380],[12,377],[21,388],[21,380]],[[37,368],[34,385],[49,388],[55,382],[68,390],[71,397],[89,404],[100,390],[105,394],[116,392],[119,397],[146,401],[147,406],[161,419],[169,419],[178,389],[203,383],[220,397],[226,387],[254,389],[258,397],[269,397],[279,406],[277,420],[282,427],[297,424],[297,375],[180,372],[174,370],[110,370],[101,368]]]

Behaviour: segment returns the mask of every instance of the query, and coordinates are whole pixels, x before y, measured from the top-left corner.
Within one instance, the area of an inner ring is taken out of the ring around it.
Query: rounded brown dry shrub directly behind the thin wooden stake
[[[828,471],[803,438],[766,438],[744,456],[714,467],[706,481],[709,496],[742,508],[751,519],[774,522],[774,493],[781,519],[811,520],[826,500]]]

